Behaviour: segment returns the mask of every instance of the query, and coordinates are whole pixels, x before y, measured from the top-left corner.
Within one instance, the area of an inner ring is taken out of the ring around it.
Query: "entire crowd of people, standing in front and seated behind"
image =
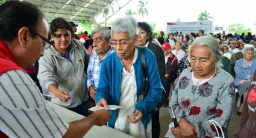
[[[91,35],[76,35],[77,26],[61,17],[48,26],[28,2],[0,5],[0,137],[83,137],[105,124],[134,137],[216,137],[221,130],[221,137],[233,137],[236,89],[243,104],[234,137],[256,136],[255,35],[161,31],[154,38],[151,26],[132,16]],[[163,107],[178,121],[169,130],[160,128],[155,110],[164,91]],[[86,118],[64,122],[45,95]],[[89,112],[108,105],[122,108]]]

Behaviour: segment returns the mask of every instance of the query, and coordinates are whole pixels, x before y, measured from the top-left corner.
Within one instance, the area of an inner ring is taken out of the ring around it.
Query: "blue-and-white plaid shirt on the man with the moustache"
[[[101,64],[102,61],[111,53],[114,52],[114,49],[110,47],[108,49],[108,52],[104,56],[104,58],[100,61],[99,55],[96,52],[93,52],[93,54],[90,56],[89,65],[87,68],[87,88],[89,89],[90,86],[98,87],[99,84],[99,73],[101,72]]]

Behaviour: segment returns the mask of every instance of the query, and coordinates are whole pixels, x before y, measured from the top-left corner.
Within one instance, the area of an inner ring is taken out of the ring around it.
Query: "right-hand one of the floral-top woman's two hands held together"
[[[184,118],[180,119],[179,125],[183,137],[196,137],[198,131],[196,130],[195,125],[190,124]]]

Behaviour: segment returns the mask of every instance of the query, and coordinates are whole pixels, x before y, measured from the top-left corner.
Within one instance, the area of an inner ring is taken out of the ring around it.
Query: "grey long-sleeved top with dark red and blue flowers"
[[[208,82],[195,86],[192,82],[192,69],[189,67],[181,73],[169,105],[176,111],[178,121],[185,118],[195,125],[197,137],[217,136],[217,130],[208,121],[210,119],[222,126],[226,137],[234,94],[234,79],[226,71],[219,68]]]

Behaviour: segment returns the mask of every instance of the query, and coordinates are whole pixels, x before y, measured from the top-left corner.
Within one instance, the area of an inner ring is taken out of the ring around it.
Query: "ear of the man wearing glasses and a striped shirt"
[[[31,39],[30,30],[27,27],[22,27],[18,32],[18,40],[21,47],[26,47],[28,41]]]

